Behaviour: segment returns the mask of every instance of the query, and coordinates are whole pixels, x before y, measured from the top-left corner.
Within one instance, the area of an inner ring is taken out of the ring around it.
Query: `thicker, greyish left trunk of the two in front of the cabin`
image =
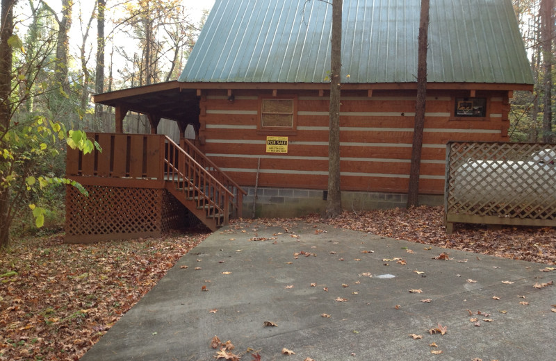
[[[332,51],[330,56],[330,128],[328,140],[328,202],[327,218],[342,212],[340,191],[340,88],[342,51],[342,3],[332,2]]]

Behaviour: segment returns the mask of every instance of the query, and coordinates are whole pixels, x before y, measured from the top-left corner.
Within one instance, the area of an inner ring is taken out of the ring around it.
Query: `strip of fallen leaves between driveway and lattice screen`
[[[409,210],[361,211],[357,215],[345,211],[335,219],[321,219],[314,215],[305,220],[445,249],[556,265],[556,228],[506,226],[500,230],[487,230],[483,225],[455,224],[454,233],[447,235],[443,227],[443,214],[442,206],[423,205]]]

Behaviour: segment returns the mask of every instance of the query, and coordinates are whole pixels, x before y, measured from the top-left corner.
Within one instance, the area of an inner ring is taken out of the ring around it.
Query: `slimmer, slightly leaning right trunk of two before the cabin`
[[[413,133],[413,148],[411,149],[411,169],[409,170],[407,208],[418,205],[421,149],[423,149],[423,128],[425,128],[425,105],[427,103],[428,33],[429,0],[421,0],[417,64],[417,101],[415,105],[415,126]]]

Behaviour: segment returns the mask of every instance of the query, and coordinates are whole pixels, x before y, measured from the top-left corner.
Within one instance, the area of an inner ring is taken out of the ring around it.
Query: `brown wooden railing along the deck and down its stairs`
[[[171,192],[183,196],[183,201],[196,202],[197,210],[204,210],[217,226],[227,224],[230,215],[241,215],[245,191],[190,142],[185,144],[191,154],[165,135],[89,136],[102,151],[83,155],[67,149],[67,176],[86,177],[79,180],[83,184],[122,187],[164,188],[170,181]]]

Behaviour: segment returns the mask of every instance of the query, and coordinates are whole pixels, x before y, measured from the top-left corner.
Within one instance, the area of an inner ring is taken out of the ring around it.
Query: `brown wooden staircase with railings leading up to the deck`
[[[211,230],[241,215],[246,192],[188,140],[165,137],[165,189]]]

